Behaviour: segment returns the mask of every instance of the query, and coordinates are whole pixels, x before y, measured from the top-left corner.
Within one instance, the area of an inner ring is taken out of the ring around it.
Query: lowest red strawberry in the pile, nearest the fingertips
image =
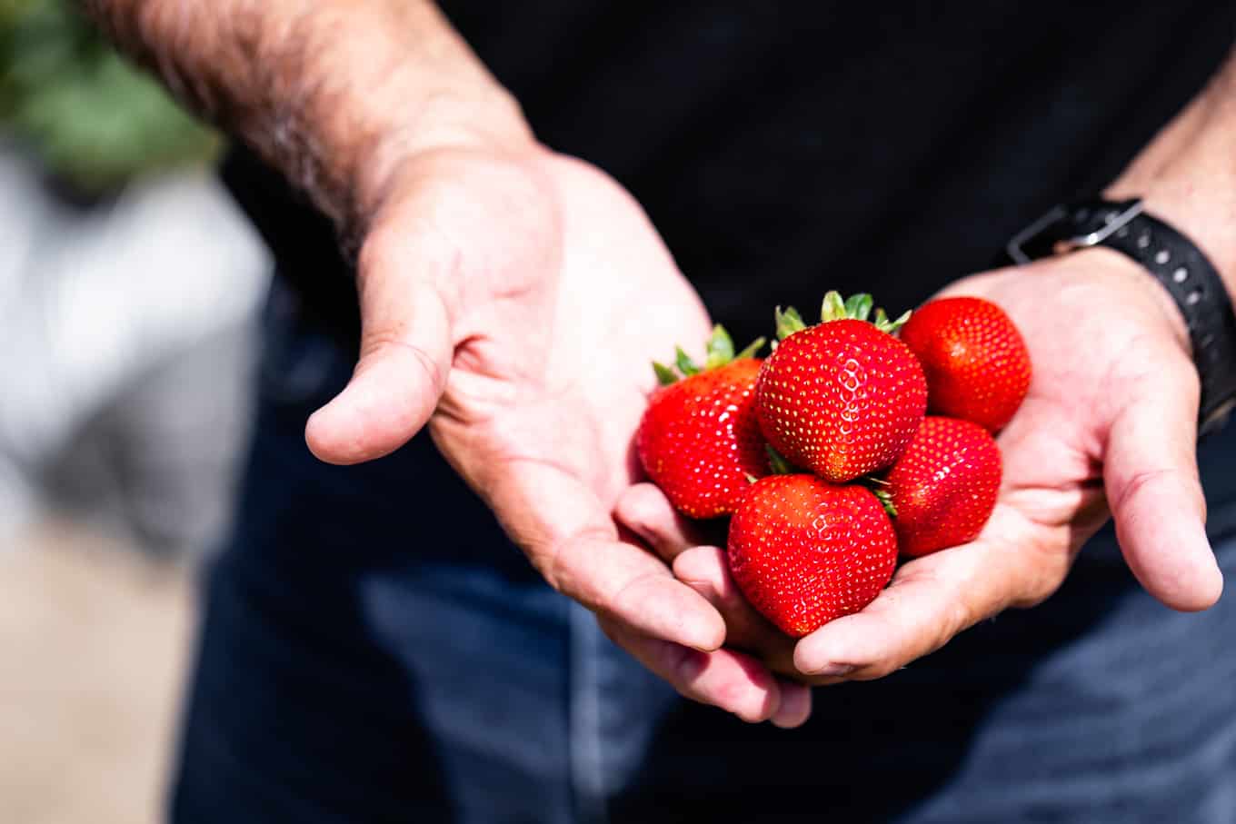
[[[896,563],[896,532],[865,487],[810,474],[761,478],[729,521],[734,581],[794,637],[875,600]]]

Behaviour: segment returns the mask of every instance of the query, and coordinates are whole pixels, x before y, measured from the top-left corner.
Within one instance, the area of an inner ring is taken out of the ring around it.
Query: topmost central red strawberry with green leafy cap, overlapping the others
[[[883,469],[906,448],[927,409],[918,359],[890,335],[870,295],[842,301],[829,292],[823,320],[803,327],[777,310],[782,338],[755,387],[760,430],[791,463],[836,483]]]

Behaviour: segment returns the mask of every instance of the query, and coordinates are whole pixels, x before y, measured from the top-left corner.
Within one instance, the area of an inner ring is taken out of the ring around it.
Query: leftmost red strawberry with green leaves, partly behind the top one
[[[735,356],[729,335],[717,326],[703,371],[682,350],[677,367],[685,379],[653,364],[664,385],[644,410],[635,450],[644,472],[684,515],[728,515],[750,488],[750,478],[769,473],[755,421],[761,361],[750,357],[763,345],[760,338]]]

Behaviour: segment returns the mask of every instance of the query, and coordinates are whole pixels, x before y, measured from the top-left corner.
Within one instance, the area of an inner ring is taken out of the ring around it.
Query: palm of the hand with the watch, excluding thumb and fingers
[[[1120,414],[1147,385],[1193,378],[1188,361],[1172,357],[1170,319],[1153,294],[1157,287],[1124,271],[1109,279],[1095,268],[1078,279],[1073,261],[1051,261],[967,278],[947,290],[1005,306],[1031,348],[1035,377],[999,439],[1004,483],[981,540],[1039,556],[1051,568],[1049,581],[1063,577],[1082,544],[1110,516],[1104,467]],[[1036,591],[1025,600],[1047,594]]]

